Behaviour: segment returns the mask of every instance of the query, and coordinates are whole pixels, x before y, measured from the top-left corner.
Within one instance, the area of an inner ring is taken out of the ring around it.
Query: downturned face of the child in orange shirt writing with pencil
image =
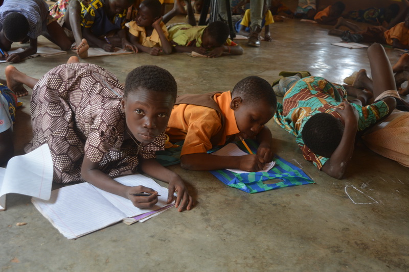
[[[245,103],[240,97],[232,100],[237,128],[243,138],[253,138],[274,115],[275,109],[265,102]]]

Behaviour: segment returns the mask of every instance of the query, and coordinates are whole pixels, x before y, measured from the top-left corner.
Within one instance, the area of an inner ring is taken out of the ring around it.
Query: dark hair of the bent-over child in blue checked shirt
[[[18,12],[8,14],[3,21],[3,31],[9,41],[22,41],[27,37],[30,26],[27,18]]]

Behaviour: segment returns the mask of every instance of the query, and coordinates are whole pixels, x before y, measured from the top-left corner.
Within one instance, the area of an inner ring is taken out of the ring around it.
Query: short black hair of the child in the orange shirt
[[[265,79],[250,76],[240,80],[232,91],[232,97],[240,96],[245,103],[266,102],[277,110],[276,93]]]

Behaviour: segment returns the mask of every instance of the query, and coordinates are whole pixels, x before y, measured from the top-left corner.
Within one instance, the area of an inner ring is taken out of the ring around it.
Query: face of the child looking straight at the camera
[[[123,97],[121,103],[129,131],[138,141],[149,143],[165,131],[174,98],[170,94],[139,88]]]

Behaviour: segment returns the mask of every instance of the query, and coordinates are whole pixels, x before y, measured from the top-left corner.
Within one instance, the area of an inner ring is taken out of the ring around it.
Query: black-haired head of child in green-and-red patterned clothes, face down
[[[344,126],[340,119],[320,112],[311,116],[301,132],[304,144],[315,153],[330,158],[341,142]]]

